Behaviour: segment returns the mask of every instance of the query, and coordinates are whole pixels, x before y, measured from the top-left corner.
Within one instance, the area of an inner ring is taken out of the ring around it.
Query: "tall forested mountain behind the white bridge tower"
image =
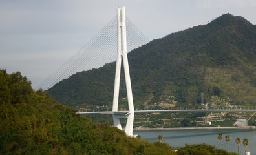
[[[207,25],[155,39],[129,52],[134,104],[256,105],[256,26],[224,14]],[[115,63],[78,72],[48,93],[65,105],[111,105]],[[120,103],[125,102],[122,78]]]

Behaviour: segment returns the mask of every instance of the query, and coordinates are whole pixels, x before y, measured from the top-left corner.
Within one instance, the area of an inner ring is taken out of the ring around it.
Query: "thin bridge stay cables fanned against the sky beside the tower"
[[[125,16],[127,30],[127,53],[145,45],[149,39],[140,32],[134,23]],[[76,72],[100,68],[106,63],[116,61],[117,36],[118,36],[117,15],[114,16],[101,30],[96,33],[83,47],[81,47],[72,57],[70,57],[55,72],[48,76],[45,81],[36,89],[48,90],[53,85],[69,78]]]

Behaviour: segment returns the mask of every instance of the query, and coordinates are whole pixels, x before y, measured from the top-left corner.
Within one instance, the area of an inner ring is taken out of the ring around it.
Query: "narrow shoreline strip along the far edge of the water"
[[[135,128],[134,131],[145,130],[215,130],[215,129],[252,129],[256,130],[255,126],[240,126],[240,127],[173,127],[173,128]]]

